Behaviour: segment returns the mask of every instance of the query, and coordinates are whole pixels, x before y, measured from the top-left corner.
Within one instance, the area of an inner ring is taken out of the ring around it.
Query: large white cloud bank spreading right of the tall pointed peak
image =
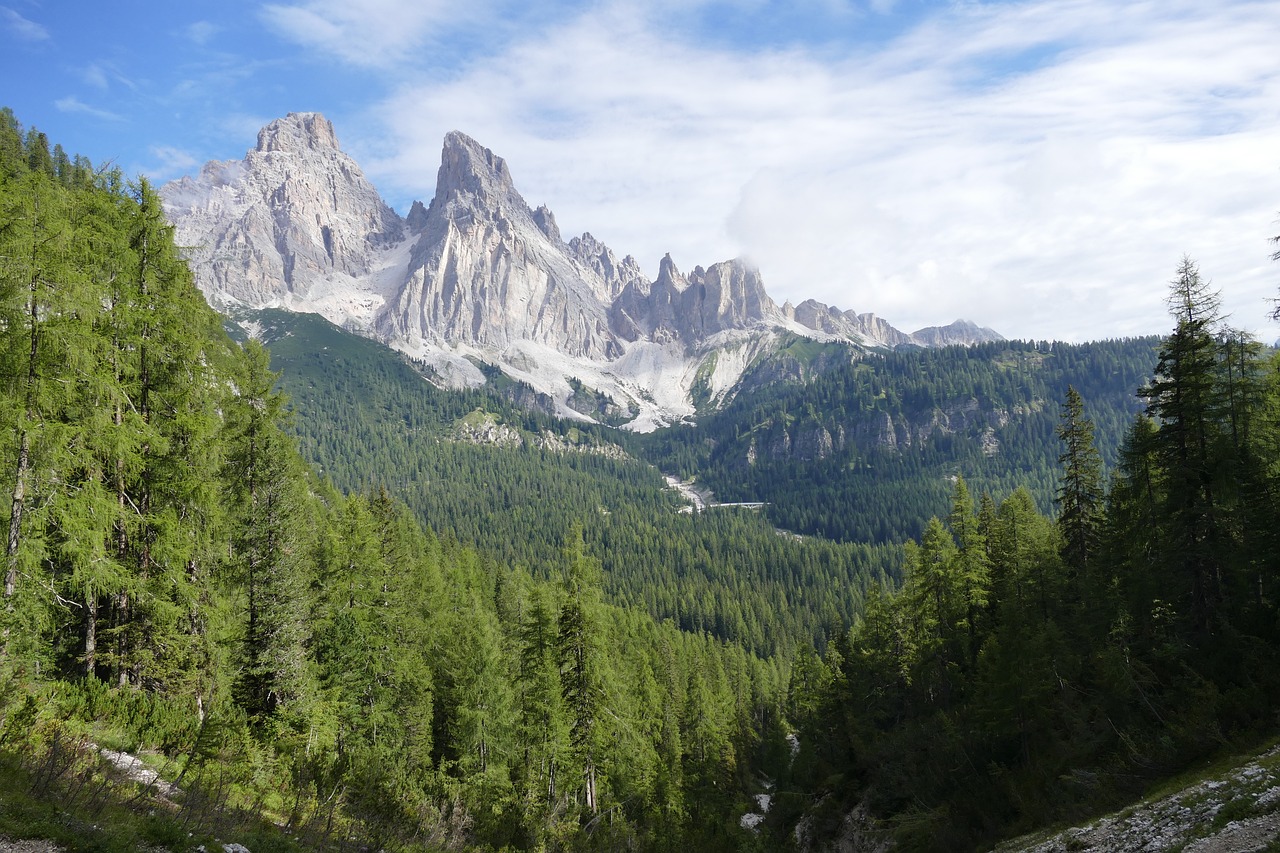
[[[1274,337],[1276,44],[1265,3],[961,4],[833,61],[709,49],[614,4],[401,88],[370,170],[430,196],[458,128],[566,234],[650,274],[666,251],[748,254],[780,301],[904,328],[1161,332],[1187,252]]]

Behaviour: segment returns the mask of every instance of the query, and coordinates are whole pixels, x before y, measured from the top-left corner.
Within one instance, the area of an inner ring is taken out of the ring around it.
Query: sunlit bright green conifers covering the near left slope
[[[604,603],[580,525],[535,580],[340,493],[146,181],[12,113],[0,174],[0,834],[740,845],[786,754],[785,661]],[[172,780],[160,807],[110,784],[106,747]]]

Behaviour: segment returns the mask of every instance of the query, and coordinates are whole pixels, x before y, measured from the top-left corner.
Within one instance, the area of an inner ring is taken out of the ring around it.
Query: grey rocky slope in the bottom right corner
[[[996,853],[1249,853],[1280,850],[1280,747],[1172,794]]]

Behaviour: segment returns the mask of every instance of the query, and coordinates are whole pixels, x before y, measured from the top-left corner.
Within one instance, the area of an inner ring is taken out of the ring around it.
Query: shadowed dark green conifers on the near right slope
[[[908,547],[902,590],[797,665],[795,785],[864,800],[905,849],[970,849],[1114,807],[1275,725],[1280,382],[1216,298],[1184,260],[1106,494],[1069,388],[1059,519],[1027,489],[974,512],[957,480],[946,524]]]

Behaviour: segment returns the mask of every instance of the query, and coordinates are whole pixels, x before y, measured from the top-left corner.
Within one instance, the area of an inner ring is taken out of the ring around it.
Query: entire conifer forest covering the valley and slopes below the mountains
[[[1275,736],[1280,364],[1190,259],[1169,307],[795,345],[632,437],[303,318],[233,339],[145,179],[3,110],[0,836],[979,849]]]

